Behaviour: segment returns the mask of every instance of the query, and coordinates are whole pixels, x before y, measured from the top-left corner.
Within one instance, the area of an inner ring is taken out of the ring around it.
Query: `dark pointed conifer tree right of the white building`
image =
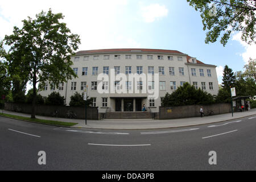
[[[228,65],[225,65],[222,78],[222,88],[230,93],[230,87],[233,88],[235,86],[235,82],[236,76],[234,76],[232,69],[229,68]]]

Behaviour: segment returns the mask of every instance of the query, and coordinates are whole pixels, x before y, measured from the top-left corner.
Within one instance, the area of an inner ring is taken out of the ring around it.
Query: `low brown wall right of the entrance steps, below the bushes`
[[[200,116],[201,105],[159,107],[159,119],[190,118]],[[231,113],[230,104],[203,105],[204,114],[208,115],[210,110],[214,114]]]

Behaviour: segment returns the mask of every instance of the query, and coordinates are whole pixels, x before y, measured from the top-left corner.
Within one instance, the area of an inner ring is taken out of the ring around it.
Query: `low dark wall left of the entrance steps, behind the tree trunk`
[[[7,102],[5,103],[5,110],[31,114],[31,105]],[[85,119],[85,107],[36,105],[37,115],[68,118],[68,113],[76,114],[77,119]],[[98,120],[98,107],[87,107],[86,115],[87,119]]]

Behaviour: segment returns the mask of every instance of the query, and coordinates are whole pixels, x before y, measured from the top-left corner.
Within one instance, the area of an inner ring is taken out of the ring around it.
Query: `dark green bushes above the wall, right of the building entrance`
[[[163,99],[164,106],[182,106],[182,105],[207,105],[213,104],[213,96],[203,90],[196,89],[194,86],[185,82],[179,86],[172,94],[166,94]]]

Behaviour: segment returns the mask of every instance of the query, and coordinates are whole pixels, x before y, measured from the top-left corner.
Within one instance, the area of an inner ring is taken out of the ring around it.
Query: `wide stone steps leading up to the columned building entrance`
[[[105,119],[150,119],[150,112],[108,112]]]

